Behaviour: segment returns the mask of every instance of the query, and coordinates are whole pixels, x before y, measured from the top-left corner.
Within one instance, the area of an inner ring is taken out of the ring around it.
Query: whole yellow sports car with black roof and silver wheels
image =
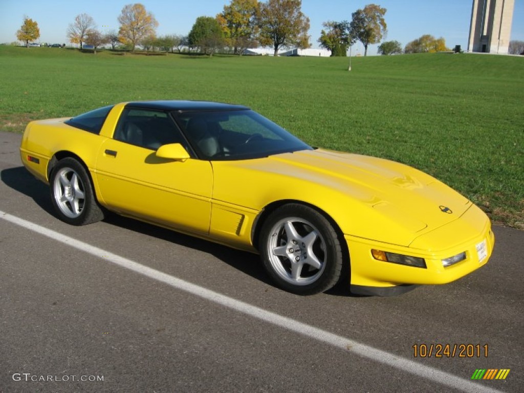
[[[259,253],[299,294],[341,277],[381,296],[451,282],[495,242],[488,217],[428,174],[310,147],[240,105],[129,102],[35,121],[20,154],[61,220],[112,211]]]

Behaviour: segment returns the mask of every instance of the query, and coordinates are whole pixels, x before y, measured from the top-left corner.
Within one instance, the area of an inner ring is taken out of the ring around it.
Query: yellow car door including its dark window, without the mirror
[[[107,139],[99,151],[95,173],[100,199],[124,215],[206,234],[211,216],[211,163],[157,157],[156,149],[168,143],[187,147],[167,113],[125,109],[113,139]]]

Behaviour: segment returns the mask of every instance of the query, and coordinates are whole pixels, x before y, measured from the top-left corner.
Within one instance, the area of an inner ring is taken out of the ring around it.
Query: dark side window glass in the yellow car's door
[[[125,109],[113,138],[151,150],[170,143],[181,143],[185,147],[183,137],[169,115],[148,109]]]

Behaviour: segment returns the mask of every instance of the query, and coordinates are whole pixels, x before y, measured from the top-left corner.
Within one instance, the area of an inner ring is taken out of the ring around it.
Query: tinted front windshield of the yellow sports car
[[[312,150],[285,129],[251,110],[175,112],[197,154],[206,160],[240,160]]]

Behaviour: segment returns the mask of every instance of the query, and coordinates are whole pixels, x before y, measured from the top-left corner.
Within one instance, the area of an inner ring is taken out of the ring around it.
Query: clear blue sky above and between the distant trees
[[[40,41],[66,43],[67,27],[74,17],[86,13],[93,17],[102,31],[118,30],[117,17],[129,0],[0,0],[0,42],[16,40],[16,31],[24,15],[36,20]],[[146,9],[159,22],[158,35],[187,35],[199,16],[215,16],[230,0],[144,0]],[[402,46],[423,34],[444,37],[448,47],[467,48],[472,0],[302,0],[302,12],[310,18],[310,42],[318,47],[322,22],[351,20],[351,14],[366,4],[387,8],[387,40],[400,41]],[[524,41],[524,0],[515,0],[511,39]],[[355,45],[363,53],[361,44]],[[376,46],[369,54],[376,54]]]

